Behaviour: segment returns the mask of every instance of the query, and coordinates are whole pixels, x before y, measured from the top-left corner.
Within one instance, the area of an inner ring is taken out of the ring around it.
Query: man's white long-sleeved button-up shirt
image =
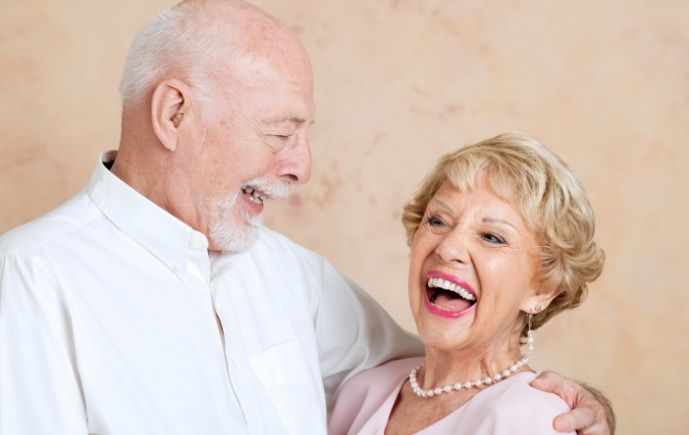
[[[100,163],[0,239],[2,435],[325,433],[346,377],[420,351],[317,254],[209,255]]]

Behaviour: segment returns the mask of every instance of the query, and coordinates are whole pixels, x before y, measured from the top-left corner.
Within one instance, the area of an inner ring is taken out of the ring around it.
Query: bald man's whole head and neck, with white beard
[[[313,78],[296,35],[244,1],[185,1],[137,34],[122,81],[113,173],[209,238],[242,251],[264,199],[311,172]]]

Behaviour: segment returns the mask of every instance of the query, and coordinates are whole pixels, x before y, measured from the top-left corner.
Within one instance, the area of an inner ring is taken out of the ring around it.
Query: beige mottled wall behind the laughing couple
[[[584,306],[536,334],[536,367],[600,386],[622,434],[686,433],[689,2],[257,3],[302,36],[318,105],[313,179],[266,222],[411,329],[405,198],[441,153],[530,133],[583,179],[608,254]],[[116,146],[124,53],[170,4],[3,5],[0,232],[71,196]]]

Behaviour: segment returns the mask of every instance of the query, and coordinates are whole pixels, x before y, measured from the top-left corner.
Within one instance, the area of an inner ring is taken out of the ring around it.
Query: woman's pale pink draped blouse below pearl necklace
[[[392,406],[421,358],[391,361],[359,373],[340,391],[328,420],[331,435],[383,434]],[[569,411],[555,394],[529,386],[536,375],[518,373],[484,388],[451,414],[417,432],[418,435],[559,434],[553,419]],[[433,399],[429,399],[433,400]],[[575,435],[574,432],[570,432]]]

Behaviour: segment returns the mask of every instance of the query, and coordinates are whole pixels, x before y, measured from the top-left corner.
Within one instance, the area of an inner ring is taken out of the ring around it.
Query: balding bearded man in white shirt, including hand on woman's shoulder
[[[191,0],[137,35],[121,92],[119,151],[0,240],[0,433],[325,433],[345,378],[420,347],[258,222],[309,178],[304,48],[249,4]],[[544,383],[607,432],[588,392]]]

